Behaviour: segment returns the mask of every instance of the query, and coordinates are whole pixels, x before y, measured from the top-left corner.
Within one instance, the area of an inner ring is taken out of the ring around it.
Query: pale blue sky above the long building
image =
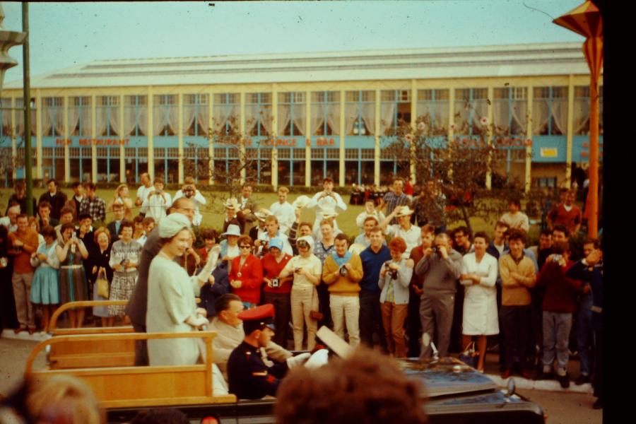
[[[31,3],[31,76],[100,59],[583,42],[552,23],[583,0]],[[21,5],[2,2],[4,29]],[[22,79],[18,66],[4,81]]]

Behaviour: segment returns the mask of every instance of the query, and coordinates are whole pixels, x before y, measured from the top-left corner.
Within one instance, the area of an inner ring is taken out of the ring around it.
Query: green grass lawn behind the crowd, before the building
[[[73,191],[71,189],[62,189],[63,192],[66,193],[67,196],[71,196]],[[37,199],[40,199],[42,193],[45,192],[45,189],[33,189],[33,196]],[[136,192],[136,188],[131,189],[131,197],[134,196]],[[9,196],[13,193],[13,189],[0,189],[0,211],[4,214],[6,210],[6,204]],[[98,189],[98,196],[106,201],[108,204],[113,199],[114,189]],[[174,196],[175,193],[170,193],[170,195]],[[216,228],[220,230],[223,227],[223,198],[224,193],[206,193],[204,192],[204,196],[208,199],[208,204],[201,209],[201,214],[203,215],[203,223],[201,227],[208,228]],[[288,201],[291,203],[296,197],[300,196],[300,194],[290,193],[288,196]],[[268,208],[275,201],[278,201],[278,196],[275,193],[254,193],[252,194],[252,198],[257,202],[259,207]],[[212,201],[211,201],[212,199]],[[360,212],[364,210],[364,206],[353,206],[349,204],[349,196],[344,195],[343,201],[347,204],[347,210],[340,213],[338,216],[338,226],[343,230],[343,232],[349,237],[355,237],[355,235],[359,234],[359,230],[357,225],[355,225],[355,218],[358,216]],[[134,211],[133,211],[134,212]],[[307,220],[310,223],[314,222],[315,218],[315,210],[314,209],[303,209],[302,220]],[[112,212],[106,213],[106,222],[110,222],[112,220]],[[454,228],[459,225],[463,225],[463,222],[449,223],[449,228]],[[473,231],[485,231],[488,234],[492,234],[493,225],[485,222],[485,220],[480,218],[471,218],[471,225]],[[533,228],[531,228],[531,232],[533,232]],[[536,231],[536,230],[534,230]]]

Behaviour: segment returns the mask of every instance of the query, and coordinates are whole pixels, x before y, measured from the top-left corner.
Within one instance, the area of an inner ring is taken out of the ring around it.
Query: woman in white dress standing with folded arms
[[[488,235],[477,232],[473,237],[475,252],[464,255],[461,267],[461,284],[465,286],[464,322],[462,343],[468,346],[477,336],[479,360],[477,370],[483,372],[486,352],[486,336],[499,334],[497,321],[497,259],[486,253]]]

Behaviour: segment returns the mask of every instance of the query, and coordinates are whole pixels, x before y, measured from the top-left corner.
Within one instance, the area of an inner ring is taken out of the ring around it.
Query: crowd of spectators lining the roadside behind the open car
[[[143,175],[141,181],[135,199],[122,184],[107,205],[92,183],[73,184],[73,197],[67,199],[50,180],[34,217],[25,214],[24,187],[16,184],[7,216],[0,218],[0,281],[11,281],[1,296],[5,327],[33,334],[35,312],[41,310],[40,329],[47,331],[56,305],[106,299],[96,283],[105,279],[108,299],[141,296],[143,307],[95,307],[90,319],[101,326],[131,322],[136,331],[150,329],[146,307],[150,314],[156,295],[148,294],[148,267],[173,243],[153,228],[170,213],[183,213],[199,227],[199,206],[206,199],[192,178],[175,196],[164,191],[160,179],[151,184]],[[541,232],[539,245],[529,247],[529,220],[520,201],[510,201],[510,211],[491,234],[471,234],[466,227],[447,229],[446,199],[435,181],[426,182],[418,196],[409,185],[395,179],[384,194],[358,187],[352,199],[361,198],[352,203],[365,209],[355,220],[360,232],[351,243],[338,228],[338,213],[347,205],[331,179],[324,179],[312,198],[299,196],[293,204],[289,190],[279,187],[278,201],[269,209],[259,208],[252,186],[245,184],[238,199],[225,202],[220,232],[199,228],[201,240],[196,240],[187,225],[187,232],[169,235],[170,240],[179,235],[187,246],[180,254],[174,242],[166,269],[174,263],[188,276],[208,271],[201,277],[200,308],[186,324],[196,327],[201,319],[212,319],[213,327],[237,329],[240,310],[271,303],[276,346],[287,347],[289,335],[295,350],[311,351],[322,325],[351,346],[379,345],[396,358],[460,353],[474,339],[479,371],[498,344],[502,377],[516,372],[530,378],[536,372],[536,378],[554,376],[563,387],[570,385],[567,361],[575,346],[576,383],[590,382],[592,364],[598,362],[594,338],[600,337],[602,256],[599,243],[588,240],[584,256],[572,257],[569,237],[581,224],[573,194],[563,193],[548,213],[549,228]],[[300,219],[302,208],[315,208],[313,223]],[[107,210],[113,216],[109,223]],[[218,261],[210,264],[213,255]],[[162,278],[152,269],[150,275]],[[71,326],[86,321],[82,311],[69,311]],[[220,336],[215,343],[234,342]],[[215,360],[221,370],[224,360]]]

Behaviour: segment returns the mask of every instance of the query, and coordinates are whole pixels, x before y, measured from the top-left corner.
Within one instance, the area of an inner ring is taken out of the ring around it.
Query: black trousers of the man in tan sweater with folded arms
[[[502,306],[499,311],[504,329],[504,364],[512,370],[514,357],[519,358],[522,370],[529,369],[528,353],[533,338],[532,305]]]

